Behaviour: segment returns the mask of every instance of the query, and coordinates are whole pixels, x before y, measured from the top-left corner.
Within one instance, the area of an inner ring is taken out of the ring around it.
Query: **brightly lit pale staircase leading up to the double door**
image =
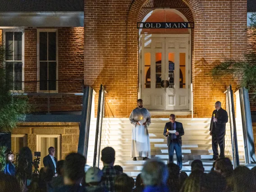
[[[166,144],[166,137],[163,135],[165,123],[169,119],[153,118],[148,132],[151,142],[151,158],[156,157],[168,162],[168,150]],[[213,161],[211,136],[209,132],[210,119],[208,118],[180,118],[176,121],[183,123],[184,136],[182,137],[183,146],[183,171],[188,174],[191,172],[191,163],[193,160],[200,159],[203,162],[206,172],[210,171]],[[227,124],[228,125],[228,124]],[[96,131],[96,119],[91,119],[89,149],[87,164],[92,165],[94,142]],[[244,150],[242,138],[242,123],[237,122],[238,134],[238,151],[240,164],[244,163]],[[115,165],[121,165],[123,171],[136,178],[142,170],[144,164],[143,160],[133,161],[130,157],[132,138],[132,126],[128,118],[104,118],[101,137],[101,149],[106,146],[112,146],[116,151]],[[225,155],[232,160],[232,146],[230,138],[230,128],[227,126],[225,136]],[[174,156],[174,163],[176,157]],[[100,164],[102,167],[102,163]]]

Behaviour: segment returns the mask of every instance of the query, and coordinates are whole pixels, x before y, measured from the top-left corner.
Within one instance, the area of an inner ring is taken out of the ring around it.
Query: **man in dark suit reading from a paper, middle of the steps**
[[[174,150],[177,157],[177,165],[182,169],[182,139],[184,129],[182,123],[175,121],[175,114],[170,114],[170,122],[165,124],[164,136],[167,137],[167,146],[169,153],[169,162],[174,162]],[[176,130],[176,133],[169,133],[169,131]]]

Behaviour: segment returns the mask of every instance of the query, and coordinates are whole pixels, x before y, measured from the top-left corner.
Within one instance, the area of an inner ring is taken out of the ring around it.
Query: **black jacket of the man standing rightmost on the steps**
[[[213,122],[213,114],[215,114],[215,118],[217,119],[216,123]],[[210,131],[212,134],[223,137],[226,133],[226,123],[228,123],[228,121],[229,117],[226,110],[222,108],[220,108],[219,111],[214,110],[212,112],[210,121]]]

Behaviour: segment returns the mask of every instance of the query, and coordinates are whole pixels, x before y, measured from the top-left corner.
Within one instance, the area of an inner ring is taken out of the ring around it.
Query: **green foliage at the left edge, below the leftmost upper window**
[[[31,109],[25,96],[14,96],[5,80],[5,47],[0,46],[0,132],[11,132]]]

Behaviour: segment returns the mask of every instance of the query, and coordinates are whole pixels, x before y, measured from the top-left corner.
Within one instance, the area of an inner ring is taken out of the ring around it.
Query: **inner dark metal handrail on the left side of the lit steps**
[[[101,89],[99,92],[94,156],[93,156],[93,166],[94,167],[95,166],[99,167],[99,165],[100,165],[102,120],[103,120],[103,116],[105,113],[104,108],[105,108],[105,88],[103,85],[101,85]]]

